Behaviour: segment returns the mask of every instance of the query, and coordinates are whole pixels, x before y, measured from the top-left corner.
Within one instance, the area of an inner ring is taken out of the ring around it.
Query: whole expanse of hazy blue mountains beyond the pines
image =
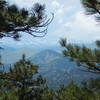
[[[13,63],[20,59],[17,58],[19,55],[21,57],[23,53],[28,54],[27,60],[31,60],[32,63],[39,65],[39,73],[37,75],[41,74],[44,76],[48,85],[53,88],[60,84],[68,84],[72,80],[80,83],[83,80],[100,77],[99,74],[82,71],[77,67],[75,62],[70,62],[66,57],[63,57],[62,54],[53,50],[43,50],[37,53],[32,49],[21,49],[13,51],[9,50],[7,53],[6,56],[3,57],[13,61]],[[7,71],[13,63],[5,64],[4,66],[1,66],[0,69]]]

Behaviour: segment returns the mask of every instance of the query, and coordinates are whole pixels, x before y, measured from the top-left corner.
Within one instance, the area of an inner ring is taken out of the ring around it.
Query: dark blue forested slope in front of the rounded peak
[[[45,71],[44,68],[44,73],[43,70],[39,73],[46,78],[48,85],[52,88],[56,88],[61,84],[66,85],[72,80],[80,84],[82,81],[86,81],[91,78],[100,78],[100,75],[98,74],[81,71],[79,68],[70,68],[68,66],[65,68],[52,68],[51,66],[51,68],[49,67],[46,69],[48,70]]]

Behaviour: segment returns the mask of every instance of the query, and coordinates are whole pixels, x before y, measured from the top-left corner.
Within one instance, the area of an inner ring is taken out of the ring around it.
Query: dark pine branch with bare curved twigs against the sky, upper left
[[[19,9],[16,5],[9,5],[6,0],[0,0],[0,38],[11,37],[18,40],[21,37],[20,32],[43,37],[52,19],[53,16],[49,19],[45,15],[45,5],[36,3],[31,11],[28,11],[25,8]]]

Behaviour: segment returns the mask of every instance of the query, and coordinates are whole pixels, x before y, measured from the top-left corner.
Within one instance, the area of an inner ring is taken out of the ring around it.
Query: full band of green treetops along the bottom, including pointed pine
[[[34,78],[38,66],[25,59],[25,55],[8,72],[0,72],[0,100],[100,100],[100,79],[73,81],[53,90],[42,76]]]

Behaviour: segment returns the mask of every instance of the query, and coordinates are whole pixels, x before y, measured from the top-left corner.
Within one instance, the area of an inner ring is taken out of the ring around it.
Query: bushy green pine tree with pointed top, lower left
[[[0,72],[0,97],[3,100],[53,100],[52,90],[45,85],[42,76],[34,78],[36,73],[38,66],[23,55],[8,72]]]

